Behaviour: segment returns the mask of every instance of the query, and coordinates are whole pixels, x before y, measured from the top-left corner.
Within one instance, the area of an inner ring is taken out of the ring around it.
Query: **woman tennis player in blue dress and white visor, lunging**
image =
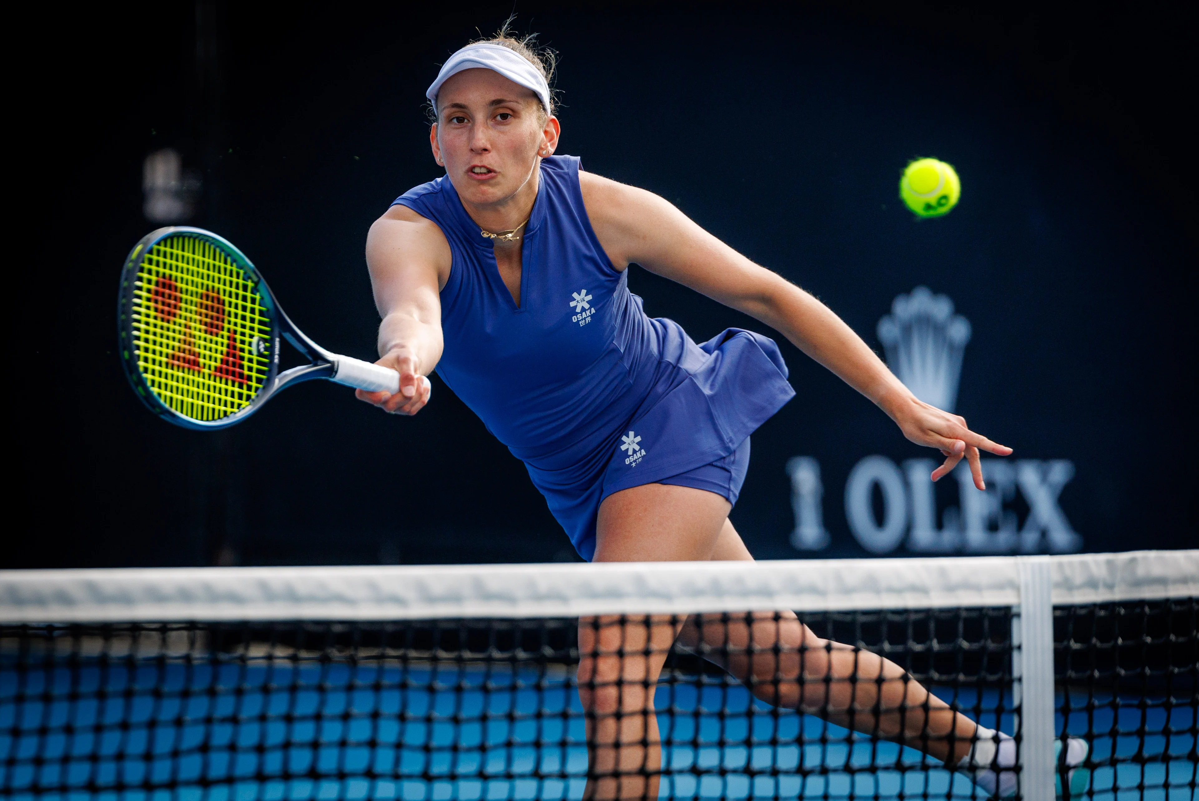
[[[400,390],[359,398],[415,415],[436,369],[525,463],[584,559],[753,559],[729,511],[751,433],[794,396],[787,366],[757,333],[729,329],[695,344],[674,321],[650,319],[628,290],[637,263],[753,315],[833,371],[908,439],[945,454],[934,481],[964,458],[983,487],[980,450],[1011,448],[918,401],[823,303],[668,201],[555,156],[553,64],[528,42],[504,30],[470,44],[428,89],[429,144],[446,174],[400,195],[367,237],[378,363],[399,372]],[[990,769],[1014,766],[1007,735],[791,613],[747,613],[682,626],[580,622],[585,797],[657,797],[653,682],[676,638],[771,704],[921,748],[992,793],[1014,790],[1012,770]]]

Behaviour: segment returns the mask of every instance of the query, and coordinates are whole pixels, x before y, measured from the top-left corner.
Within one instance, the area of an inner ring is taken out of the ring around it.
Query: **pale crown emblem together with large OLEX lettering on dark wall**
[[[899,295],[879,320],[887,366],[924,403],[953,411],[970,323],[953,301],[917,287]],[[900,546],[915,553],[1072,553],[1083,537],[1071,528],[1058,500],[1074,476],[1067,459],[982,459],[986,490],[975,488],[965,460],[954,469],[957,505],[938,512],[932,458],[896,464],[885,456],[858,460],[845,480],[845,522],[872,554]],[[824,524],[820,463],[800,456],[787,463],[791,478],[797,550],[823,550],[831,537]],[[1024,519],[1020,520],[1023,512]]]

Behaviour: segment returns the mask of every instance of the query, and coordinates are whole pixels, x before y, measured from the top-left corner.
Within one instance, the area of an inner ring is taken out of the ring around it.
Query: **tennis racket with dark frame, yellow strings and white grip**
[[[249,259],[199,228],[159,228],[134,246],[121,271],[118,324],[134,392],[185,428],[240,423],[276,392],[318,378],[399,391],[396,371],[330,353],[305,336]],[[281,335],[307,365],[279,372]]]

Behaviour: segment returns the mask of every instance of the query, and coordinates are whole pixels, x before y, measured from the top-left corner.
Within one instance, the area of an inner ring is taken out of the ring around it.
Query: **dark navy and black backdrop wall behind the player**
[[[561,53],[559,152],[663,194],[873,347],[896,295],[948,295],[974,327],[958,410],[1019,457],[1074,463],[1060,504],[1084,549],[1194,546],[1193,6],[891,5],[516,11]],[[122,257],[155,227],[141,163],[169,146],[203,177],[189,223],[249,254],[314,339],[372,359],[366,230],[438,175],[436,65],[510,10],[92,6],[30,26],[10,235],[31,299],[13,341],[36,366],[10,384],[5,566],[571,558],[522,465],[438,381],[411,420],[309,384],[199,434],[146,412],[114,354]],[[963,200],[916,222],[896,183],[926,155],[957,167]],[[764,330],[632,270],[646,311],[695,339]],[[733,519],[759,556],[801,555],[784,465],[814,456],[832,541],[811,555],[862,555],[845,476],[922,454],[782,347],[799,396],[754,436]]]

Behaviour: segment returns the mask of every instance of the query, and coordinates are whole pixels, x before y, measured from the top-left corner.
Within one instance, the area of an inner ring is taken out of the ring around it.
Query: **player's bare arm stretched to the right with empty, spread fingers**
[[[1007,456],[966,421],[917,399],[852,329],[819,300],[745,258],[662,198],[580,174],[591,224],[617,269],[635,261],[737,311],[790,339],[796,348],[879,405],[904,436],[940,450],[941,478],[965,458],[975,486],[983,488],[978,451]]]

